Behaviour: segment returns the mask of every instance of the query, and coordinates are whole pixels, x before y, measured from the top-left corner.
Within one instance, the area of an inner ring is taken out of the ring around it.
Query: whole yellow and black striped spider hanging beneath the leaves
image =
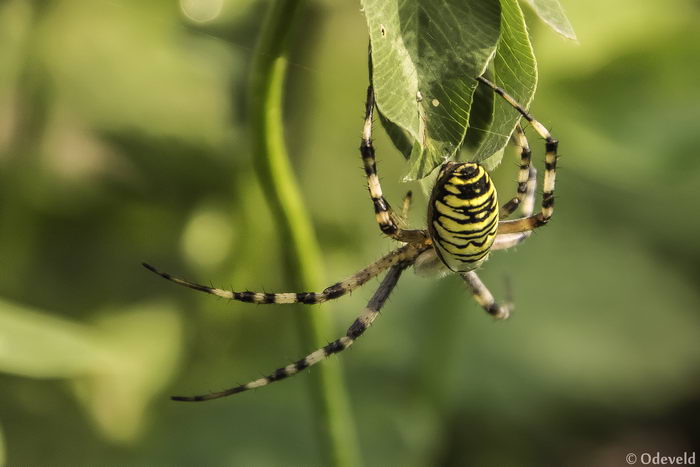
[[[385,235],[401,242],[402,246],[322,292],[233,292],[189,282],[161,272],[149,264],[144,263],[143,265],[165,279],[191,289],[229,300],[257,304],[303,303],[313,305],[323,303],[352,292],[373,277],[388,270],[379,288],[374,292],[362,314],[350,325],[346,334],[325,347],[275,370],[268,376],[249,383],[208,394],[173,396],[173,400],[205,401],[259,388],[295,375],[330,355],[342,352],[372,325],[379,310],[396,286],[399,277],[411,265],[415,267],[417,272],[441,267],[459,274],[471,290],[476,302],[487,313],[496,319],[508,318],[512,304],[497,303],[475,270],[487,260],[491,251],[505,250],[519,244],[529,237],[534,229],[545,225],[552,217],[557,140],[503,89],[484,77],[476,79],[503,97],[545,140],[544,193],[540,212],[533,214],[536,171],[531,167],[531,152],[527,139],[522,128],[518,125],[513,132],[512,139],[519,148],[520,169],[517,193],[512,199],[499,209],[496,190],[491,178],[478,163],[445,162],[439,170],[430,197],[427,216],[428,228],[408,230],[399,227],[401,217],[405,217],[407,212],[411,196],[409,192],[404,198],[403,216],[399,216],[392,211],[382,194],[372,145],[372,116],[375,101],[374,91],[370,85],[367,89],[360,153],[377,224]],[[513,214],[518,208],[521,208],[523,217],[513,220],[499,220]]]

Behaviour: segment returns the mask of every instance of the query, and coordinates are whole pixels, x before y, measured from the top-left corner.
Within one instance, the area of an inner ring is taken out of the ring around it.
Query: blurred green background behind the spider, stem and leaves
[[[321,462],[304,376],[203,404],[312,350],[282,291],[245,84],[266,2],[0,2],[0,453],[22,465]],[[566,1],[579,43],[528,15],[533,113],[560,140],[557,211],[482,277],[407,273],[344,367],[367,465],[624,465],[700,445],[700,3]],[[388,252],[357,151],[359,2],[315,0],[293,45],[287,139],[330,284]],[[541,162],[539,141],[530,135]],[[378,136],[395,204],[403,158]],[[515,189],[516,156],[496,171]],[[417,196],[413,224],[424,226]],[[378,281],[321,306],[344,333]],[[315,371],[311,369],[310,371]],[[4,448],[3,448],[4,446]]]

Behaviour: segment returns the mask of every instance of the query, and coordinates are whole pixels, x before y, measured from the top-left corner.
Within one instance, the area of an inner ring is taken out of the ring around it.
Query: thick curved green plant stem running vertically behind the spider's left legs
[[[250,86],[248,118],[255,169],[277,223],[287,259],[287,276],[297,290],[322,286],[321,254],[289,163],[282,120],[288,44],[303,0],[276,0],[258,39]],[[332,333],[328,310],[304,307],[298,322],[303,342],[325,345]],[[307,349],[308,350],[308,349]],[[340,362],[321,365],[304,375],[311,381],[319,440],[326,465],[359,464],[359,451]]]

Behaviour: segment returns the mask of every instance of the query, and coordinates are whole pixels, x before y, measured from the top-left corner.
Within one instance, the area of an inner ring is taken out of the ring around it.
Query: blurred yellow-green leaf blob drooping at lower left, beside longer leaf
[[[144,302],[105,312],[91,330],[103,361],[74,378],[72,387],[102,434],[115,442],[137,439],[149,406],[175,374],[182,321],[173,306]]]

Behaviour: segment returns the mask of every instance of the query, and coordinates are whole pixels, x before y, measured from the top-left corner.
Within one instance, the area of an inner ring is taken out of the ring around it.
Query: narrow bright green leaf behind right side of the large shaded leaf
[[[537,87],[537,64],[525,26],[523,12],[516,0],[501,0],[501,39],[493,61],[496,84],[524,108],[528,108]],[[489,89],[489,91],[491,91]],[[493,93],[493,91],[491,91]],[[492,170],[501,161],[503,147],[508,143],[520,114],[498,97],[493,102],[493,120],[490,127],[472,127],[469,133],[486,133],[473,160]]]

